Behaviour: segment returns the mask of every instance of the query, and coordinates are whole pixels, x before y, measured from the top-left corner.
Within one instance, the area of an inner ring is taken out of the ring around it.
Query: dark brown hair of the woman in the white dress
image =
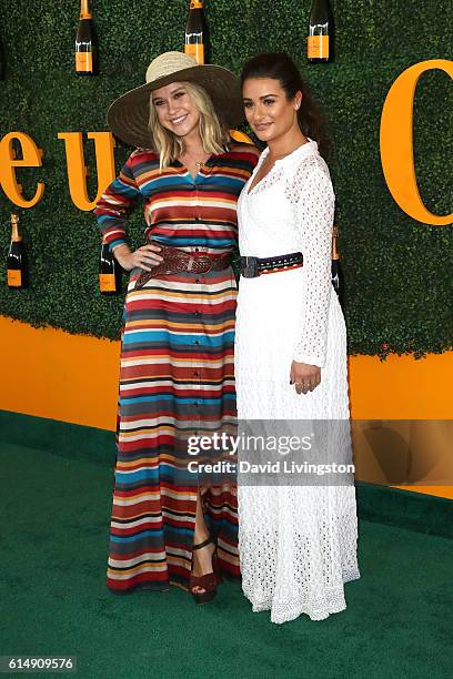
[[[331,141],[325,118],[291,57],[285,52],[258,54],[244,64],[241,73],[241,84],[243,85],[249,78],[278,80],[288,100],[292,100],[298,91],[302,92],[302,102],[298,111],[299,126],[305,136],[310,136],[318,143],[321,155],[326,159],[331,150]]]

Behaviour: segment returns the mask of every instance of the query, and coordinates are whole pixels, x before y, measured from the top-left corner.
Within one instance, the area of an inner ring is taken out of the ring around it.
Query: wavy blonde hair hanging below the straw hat
[[[223,153],[230,141],[230,134],[226,126],[219,120],[208,92],[194,82],[184,81],[181,84],[200,112],[199,131],[205,153]],[[153,148],[160,154],[160,169],[168,168],[172,161],[183,153],[184,141],[161,124],[152,101],[152,94],[150,98],[149,129]]]

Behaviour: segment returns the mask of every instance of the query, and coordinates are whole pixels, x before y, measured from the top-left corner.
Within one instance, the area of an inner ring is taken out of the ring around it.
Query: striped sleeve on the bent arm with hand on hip
[[[94,209],[102,239],[113,252],[118,245],[125,243],[125,215],[132,204],[141,196],[140,189],[133,174],[133,159],[137,151],[131,153],[117,179],[105,189]]]

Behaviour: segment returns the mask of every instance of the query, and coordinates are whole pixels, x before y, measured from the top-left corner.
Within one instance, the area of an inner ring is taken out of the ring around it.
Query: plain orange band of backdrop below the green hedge
[[[0,409],[114,430],[120,343],[0,316]],[[453,419],[453,352],[350,357],[354,419]],[[453,497],[451,487],[409,487]]]

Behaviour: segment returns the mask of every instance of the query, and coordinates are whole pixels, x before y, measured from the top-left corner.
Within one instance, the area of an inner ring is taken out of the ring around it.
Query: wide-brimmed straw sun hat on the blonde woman
[[[194,82],[211,97],[215,113],[228,126],[234,128],[243,119],[241,89],[238,79],[222,67],[199,64],[182,52],[160,54],[147,70],[145,84],[119,97],[107,113],[113,134],[132,146],[149,148],[150,95],[153,90],[172,82]]]

